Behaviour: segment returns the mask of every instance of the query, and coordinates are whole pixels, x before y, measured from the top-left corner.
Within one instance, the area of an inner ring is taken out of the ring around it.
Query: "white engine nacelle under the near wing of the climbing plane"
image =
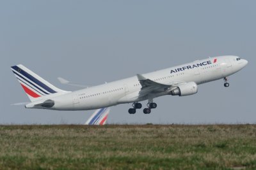
[[[170,94],[172,96],[188,96],[197,93],[197,85],[195,82],[189,82],[179,85],[176,89],[173,89]]]

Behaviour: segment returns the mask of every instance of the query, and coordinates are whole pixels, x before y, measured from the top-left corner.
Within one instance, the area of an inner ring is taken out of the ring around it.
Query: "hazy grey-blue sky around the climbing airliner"
[[[1,1],[0,124],[81,124],[93,111],[28,110],[10,66],[24,64],[65,90],[57,77],[98,85],[216,55],[249,61],[198,94],[155,99],[149,115],[111,107],[111,124],[255,123],[255,1]],[[146,102],[143,102],[145,105]],[[144,107],[144,106],[143,106]]]

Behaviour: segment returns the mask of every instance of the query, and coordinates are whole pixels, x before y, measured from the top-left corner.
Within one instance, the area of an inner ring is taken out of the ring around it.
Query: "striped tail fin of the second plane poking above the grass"
[[[110,108],[96,110],[84,125],[105,125],[107,122]]]

